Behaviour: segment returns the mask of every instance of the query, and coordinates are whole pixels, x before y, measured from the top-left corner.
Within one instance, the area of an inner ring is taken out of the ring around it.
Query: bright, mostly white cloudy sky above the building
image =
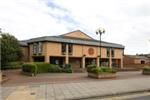
[[[125,46],[125,54],[150,53],[150,0],[0,0],[0,28],[19,40],[81,30]]]

